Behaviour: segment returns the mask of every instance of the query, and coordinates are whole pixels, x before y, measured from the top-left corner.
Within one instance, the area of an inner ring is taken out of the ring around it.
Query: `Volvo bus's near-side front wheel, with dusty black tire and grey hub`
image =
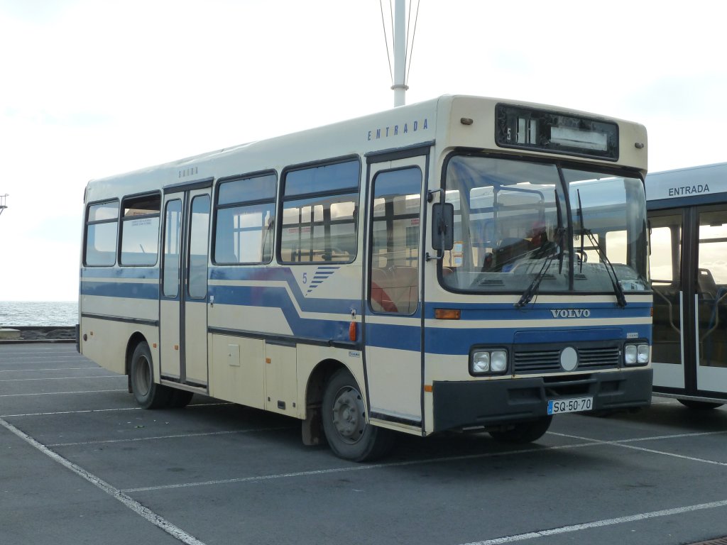
[[[374,460],[385,456],[393,447],[393,432],[366,421],[364,397],[348,369],[336,371],[329,379],[322,411],[326,439],[339,458]]]

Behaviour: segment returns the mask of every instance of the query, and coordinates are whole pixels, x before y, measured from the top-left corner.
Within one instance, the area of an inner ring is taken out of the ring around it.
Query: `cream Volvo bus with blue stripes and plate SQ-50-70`
[[[646,130],[444,96],[89,182],[79,346],[384,455],[651,399]]]

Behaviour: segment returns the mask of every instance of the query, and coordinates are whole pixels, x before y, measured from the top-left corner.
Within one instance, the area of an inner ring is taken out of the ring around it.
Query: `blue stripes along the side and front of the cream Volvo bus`
[[[132,269],[85,269],[82,275],[93,278],[109,278],[109,281],[95,281],[81,279],[81,294],[95,296],[111,296],[119,298],[158,299],[158,283],[114,282],[114,278],[158,278],[158,270],[132,268]],[[350,320],[319,320],[316,318],[302,318],[290,294],[295,297],[297,306],[302,312],[325,312],[330,314],[350,314],[351,310],[361,313],[360,299],[314,299],[306,298],[298,286],[292,271],[289,268],[273,267],[226,267],[210,269],[210,276],[214,280],[246,280],[259,282],[259,286],[209,286],[209,294],[214,296],[215,304],[245,305],[246,307],[279,308],[283,313],[288,326],[294,336],[308,339],[348,341],[348,326]],[[285,283],[287,286],[270,283]],[[353,289],[355,292],[358,288]],[[204,302],[204,299],[198,300]],[[625,308],[616,307],[611,303],[595,303],[579,305],[575,303],[558,304],[529,304],[526,308],[518,309],[513,304],[439,304],[427,305],[425,315],[433,318],[435,308],[459,308],[462,310],[462,319],[457,327],[447,328],[429,326],[425,336],[427,346],[425,350],[438,354],[462,354],[469,352],[473,344],[512,344],[513,342],[569,342],[604,339],[624,339],[626,334],[639,338],[651,339],[648,325],[623,326],[589,326],[588,318],[582,318],[578,326],[563,326],[543,329],[542,326],[534,328],[518,327],[515,320],[553,320],[553,310],[569,310],[587,308],[590,319],[595,318],[632,318],[648,317],[651,304],[629,303]],[[512,320],[513,327],[507,328],[472,328],[467,327],[470,320],[491,320],[493,313],[499,322]],[[421,305],[413,315],[414,323],[409,325],[387,325],[367,323],[367,342],[371,346],[395,348],[399,350],[419,351],[421,331]],[[234,328],[234,324],[230,324]],[[518,337],[520,340],[518,340]]]

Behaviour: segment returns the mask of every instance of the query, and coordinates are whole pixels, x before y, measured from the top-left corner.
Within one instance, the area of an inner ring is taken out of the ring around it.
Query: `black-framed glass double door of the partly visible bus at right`
[[[721,398],[727,392],[727,209],[654,211],[649,222],[654,389]]]

